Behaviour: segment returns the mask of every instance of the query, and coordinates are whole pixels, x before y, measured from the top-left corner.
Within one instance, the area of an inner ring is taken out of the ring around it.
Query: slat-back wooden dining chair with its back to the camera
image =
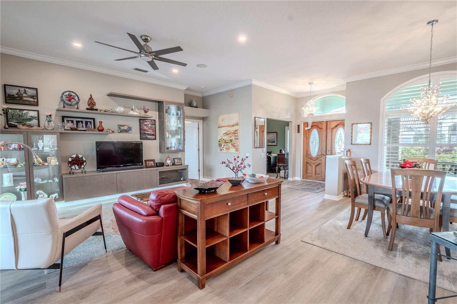
[[[401,203],[389,205],[388,231],[392,229],[388,250],[393,249],[395,241],[396,224],[411,225],[429,228],[431,231],[439,231],[440,216],[433,209],[432,189],[436,178],[440,179],[436,191],[435,200],[441,202],[443,193],[445,171],[427,169],[391,169],[392,196],[397,194],[395,183],[398,176],[401,180],[403,200]],[[421,196],[422,194],[422,196]],[[422,203],[422,204],[421,204]],[[441,260],[441,257],[440,257]]]

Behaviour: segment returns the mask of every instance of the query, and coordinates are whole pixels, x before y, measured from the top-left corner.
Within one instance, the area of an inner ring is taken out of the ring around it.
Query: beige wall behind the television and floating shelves
[[[56,108],[62,107],[60,94],[65,90],[76,92],[81,99],[80,108],[87,107],[87,99],[92,94],[96,101],[96,107],[101,109],[113,109],[117,105],[125,106],[130,109],[135,104],[142,110],[143,105],[149,108],[149,115],[158,122],[157,104],[151,102],[133,102],[120,98],[106,96],[109,92],[119,92],[125,94],[152,97],[162,100],[184,102],[184,90],[174,89],[150,84],[143,81],[127,79],[108,75],[104,73],[92,72],[80,68],[72,68],[55,63],[47,63],[34,59],[22,58],[13,55],[0,54],[0,81],[1,84],[24,85],[38,88],[38,107],[24,105],[9,105],[11,108],[37,109],[40,111],[40,123],[43,126],[45,113],[53,113],[54,121],[61,121],[62,115],[78,116],[78,113],[57,112]],[[1,103],[4,102],[4,92],[1,90]],[[60,104],[60,105],[59,105]],[[141,111],[142,112],[142,111]],[[61,133],[61,155],[62,170],[68,171],[66,160],[74,153],[81,153],[87,159],[86,169],[96,169],[96,141],[139,141],[139,120],[134,117],[114,117],[110,115],[100,115],[96,113],[80,115],[82,117],[94,117],[96,126],[98,121],[103,121],[105,130],[110,128],[117,132],[117,124],[132,125],[131,134],[71,134]],[[3,116],[1,124],[3,126]],[[56,126],[57,129],[57,126]],[[11,130],[11,129],[10,129]],[[159,139],[143,141],[143,158],[164,161],[168,153],[159,153]],[[178,153],[170,153],[170,157],[178,157]],[[184,153],[181,157],[184,161]]]

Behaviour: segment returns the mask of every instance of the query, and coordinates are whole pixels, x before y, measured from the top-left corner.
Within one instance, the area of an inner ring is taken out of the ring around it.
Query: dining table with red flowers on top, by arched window
[[[414,169],[411,169],[414,170]],[[374,207],[374,194],[390,194],[392,195],[392,177],[389,172],[377,172],[372,173],[366,177],[360,179],[361,183],[364,183],[368,193],[368,216],[367,216],[367,227],[365,228],[365,236],[368,236],[370,226],[373,218],[373,207]],[[435,178],[432,186],[432,197],[438,191],[440,178]],[[401,195],[401,177],[395,177],[395,186],[397,194]],[[449,210],[451,209],[451,195],[457,194],[457,176],[446,175],[444,180],[444,188],[441,196],[441,202],[443,203],[442,212],[442,231],[449,231]],[[446,248],[446,255],[450,256],[451,251]]]

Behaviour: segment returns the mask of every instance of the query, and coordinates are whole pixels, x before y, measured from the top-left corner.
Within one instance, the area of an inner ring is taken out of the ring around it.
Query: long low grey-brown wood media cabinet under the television
[[[90,199],[99,196],[126,193],[144,189],[186,183],[187,165],[154,167],[135,170],[64,173],[64,199]]]

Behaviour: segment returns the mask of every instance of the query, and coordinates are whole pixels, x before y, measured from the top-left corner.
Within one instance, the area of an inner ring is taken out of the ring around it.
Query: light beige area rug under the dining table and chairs
[[[393,250],[388,251],[389,237],[383,238],[379,212],[375,211],[373,214],[368,237],[364,236],[367,220],[353,221],[351,229],[346,229],[350,215],[351,208],[347,208],[311,232],[302,241],[428,283],[430,267],[428,229],[400,225],[395,234]],[[450,225],[451,230],[455,227],[456,225]],[[441,253],[445,253],[442,246]],[[454,257],[455,252],[451,251],[451,255]],[[457,293],[455,261],[443,258],[443,262],[438,262],[436,285]]]

